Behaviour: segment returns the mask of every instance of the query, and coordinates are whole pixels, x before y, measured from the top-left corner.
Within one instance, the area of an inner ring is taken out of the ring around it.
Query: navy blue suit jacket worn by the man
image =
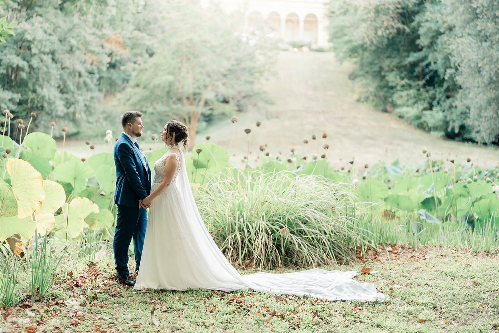
[[[139,207],[142,200],[151,192],[151,169],[147,159],[141,158],[137,146],[124,134],[114,145],[116,165],[116,192],[114,203],[128,207]]]

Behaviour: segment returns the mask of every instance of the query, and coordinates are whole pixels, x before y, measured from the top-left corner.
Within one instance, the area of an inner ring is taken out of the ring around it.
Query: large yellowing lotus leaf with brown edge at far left
[[[17,215],[22,219],[38,210],[45,199],[43,178],[31,164],[17,158],[7,160],[7,172],[17,200]]]

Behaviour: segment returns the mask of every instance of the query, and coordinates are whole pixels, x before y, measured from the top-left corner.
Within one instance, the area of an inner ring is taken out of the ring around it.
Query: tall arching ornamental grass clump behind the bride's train
[[[208,230],[226,257],[259,267],[315,267],[350,258],[364,218],[345,184],[289,171],[211,176],[196,192]]]

